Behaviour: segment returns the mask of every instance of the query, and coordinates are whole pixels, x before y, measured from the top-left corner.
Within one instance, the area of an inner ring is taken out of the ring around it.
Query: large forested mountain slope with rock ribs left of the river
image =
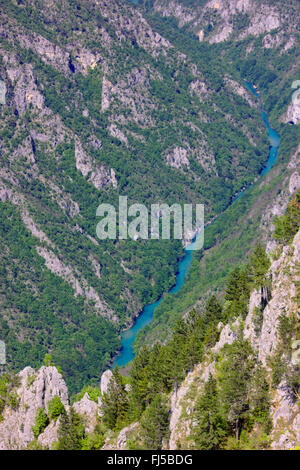
[[[212,217],[254,181],[267,139],[214,45],[188,56],[132,4],[0,8],[7,363],[38,367],[51,352],[75,390],[99,378],[118,332],[172,286],[183,253],[178,240],[100,243],[98,204],[197,202]]]

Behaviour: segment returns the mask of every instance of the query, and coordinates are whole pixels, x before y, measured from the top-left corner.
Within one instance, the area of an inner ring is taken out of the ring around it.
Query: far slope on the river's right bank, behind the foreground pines
[[[161,34],[190,58],[196,61],[208,44],[213,43],[215,52],[232,67],[235,78],[241,83],[249,81],[258,88],[264,110],[271,126],[280,134],[281,143],[272,170],[206,229],[205,250],[194,255],[184,287],[178,294],[166,296],[154,313],[151,327],[140,332],[136,349],[144,342],[152,344],[158,336],[164,340],[179,316],[195,305],[203,309],[210,292],[223,294],[231,266],[249,256],[258,238],[265,243],[271,239],[274,217],[284,212],[300,181],[300,130],[297,126],[300,107],[295,97],[299,76],[299,15],[295,12],[299,4],[255,0],[199,4],[158,0],[152,2],[152,6],[147,2],[147,7],[149,23],[156,25]],[[272,10],[279,22],[277,25],[264,21],[262,11],[265,10]],[[199,41],[199,28],[206,28],[209,15],[215,17],[216,34],[219,34],[227,23],[231,27],[237,25],[241,12],[248,12],[249,21],[241,22],[239,28],[225,35],[222,41],[214,42],[214,28]],[[280,41],[269,41],[270,36],[276,38],[277,35]],[[210,66],[208,63],[207,68]],[[256,106],[259,106],[258,100]],[[293,117],[289,119],[289,116]]]

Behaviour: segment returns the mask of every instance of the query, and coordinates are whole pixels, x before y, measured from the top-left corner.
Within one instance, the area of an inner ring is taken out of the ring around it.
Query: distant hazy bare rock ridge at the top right
[[[291,2],[290,7],[297,9],[297,3]],[[182,5],[177,0],[155,0],[153,8],[162,16],[175,17],[179,27],[188,26],[200,42],[219,43],[264,34],[262,46],[265,48],[281,47],[287,51],[295,43],[297,19],[294,16],[288,20],[287,5],[277,2],[209,0],[204,5],[202,2]],[[238,22],[242,28],[236,26]]]

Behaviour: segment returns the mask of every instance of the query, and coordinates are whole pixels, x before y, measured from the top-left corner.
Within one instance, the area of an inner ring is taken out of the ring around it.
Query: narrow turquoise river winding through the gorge
[[[262,117],[262,120],[263,120],[263,122],[264,122],[264,124],[267,128],[268,137],[269,137],[269,140],[270,140],[268,160],[267,160],[265,168],[260,173],[260,176],[263,177],[271,170],[272,166],[274,165],[274,163],[276,161],[276,158],[278,156],[278,149],[279,149],[279,145],[280,145],[280,136],[270,126],[270,123],[268,121],[268,116],[267,116],[266,112],[263,109],[262,99],[261,99],[260,94],[257,91],[257,89],[249,82],[245,82],[245,85],[248,88],[248,90],[260,100],[261,117]],[[246,190],[247,190],[247,188],[244,189],[243,191],[241,191],[232,200],[231,204],[233,204],[237,199],[242,197],[242,195],[245,193]],[[188,248],[190,248],[190,247],[187,247],[185,249],[185,254],[184,254],[183,258],[178,263],[178,270],[177,270],[177,274],[176,274],[176,282],[175,282],[175,285],[170,289],[169,294],[175,294],[184,285],[185,277],[188,273],[189,267],[190,267],[191,262],[192,262],[192,253],[193,253],[193,251],[191,249],[188,249]],[[119,352],[119,355],[116,356],[116,358],[114,359],[112,367],[115,367],[116,365],[118,367],[123,367],[126,364],[128,364],[128,362],[130,362],[134,358],[134,352],[133,352],[133,349],[132,349],[132,344],[133,344],[133,342],[136,338],[136,335],[142,328],[144,328],[144,326],[148,325],[152,321],[154,310],[159,306],[159,304],[163,301],[163,299],[164,298],[161,297],[156,302],[154,302],[152,304],[149,304],[149,305],[146,305],[143,308],[143,310],[141,311],[141,313],[138,316],[138,318],[137,318],[136,322],[134,323],[134,325],[131,328],[129,328],[128,330],[125,330],[121,334],[121,340],[122,340],[121,350]]]

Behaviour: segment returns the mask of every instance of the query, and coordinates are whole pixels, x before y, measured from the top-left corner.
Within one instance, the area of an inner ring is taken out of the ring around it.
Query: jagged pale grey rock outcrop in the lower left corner
[[[104,372],[101,378],[101,391],[106,393],[111,380],[110,370]],[[26,449],[34,440],[32,427],[35,424],[37,412],[42,408],[48,413],[48,404],[54,397],[59,397],[66,412],[69,412],[69,396],[65,381],[54,366],[43,366],[38,371],[25,367],[16,377],[16,402],[7,406],[0,422],[0,450]],[[101,397],[98,402],[91,400],[88,393],[73,403],[74,410],[82,417],[86,432],[93,432],[97,424],[97,416],[101,413]],[[59,418],[52,420],[38,436],[38,442],[44,448],[51,448],[57,441]]]

